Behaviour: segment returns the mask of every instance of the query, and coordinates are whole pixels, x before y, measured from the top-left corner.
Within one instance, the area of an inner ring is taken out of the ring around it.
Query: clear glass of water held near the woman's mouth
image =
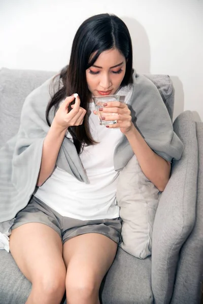
[[[116,113],[105,113],[105,111],[99,111],[99,108],[103,107],[104,103],[108,103],[111,101],[120,101],[120,102],[124,102],[125,96],[121,96],[121,95],[106,95],[106,96],[93,96],[93,101],[94,101],[94,105],[95,105],[95,110],[96,110],[96,114],[98,116],[98,120],[99,120],[99,125],[101,126],[106,126],[106,125],[114,125],[117,123],[117,120],[113,120],[113,121],[103,121],[101,119],[101,116],[113,116],[116,115]]]

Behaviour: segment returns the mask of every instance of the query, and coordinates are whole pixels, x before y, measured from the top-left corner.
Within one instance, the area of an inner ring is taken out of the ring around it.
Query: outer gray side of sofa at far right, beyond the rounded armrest
[[[203,270],[203,123],[196,123],[196,133],[198,143],[196,222],[192,233],[181,249],[171,304],[196,304],[200,303],[201,299]]]

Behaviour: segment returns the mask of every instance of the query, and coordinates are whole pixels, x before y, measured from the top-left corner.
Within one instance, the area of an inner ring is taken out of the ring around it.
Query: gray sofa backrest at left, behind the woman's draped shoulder
[[[25,97],[54,72],[0,69],[0,147],[19,129]]]

